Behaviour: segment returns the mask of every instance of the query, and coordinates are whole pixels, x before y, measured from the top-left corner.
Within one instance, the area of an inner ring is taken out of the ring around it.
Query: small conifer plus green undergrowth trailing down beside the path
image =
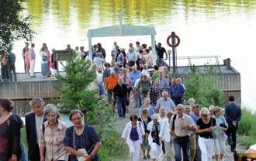
[[[100,160],[114,160],[122,154],[119,150],[119,132],[113,128],[115,120],[112,118],[112,109],[103,107],[96,98],[96,91],[88,90],[88,85],[95,81],[95,70],[90,70],[91,63],[77,59],[78,53],[71,51],[64,66],[65,75],[58,75],[64,85],[61,90],[61,97],[57,100],[61,109],[83,109],[88,110],[87,120],[93,125],[99,134],[102,147],[99,149]]]

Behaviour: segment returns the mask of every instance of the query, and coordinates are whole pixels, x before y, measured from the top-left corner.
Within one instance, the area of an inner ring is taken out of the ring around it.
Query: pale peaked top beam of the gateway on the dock
[[[98,29],[88,29],[87,37],[109,37],[109,36],[144,36],[155,35],[154,27],[115,25]]]

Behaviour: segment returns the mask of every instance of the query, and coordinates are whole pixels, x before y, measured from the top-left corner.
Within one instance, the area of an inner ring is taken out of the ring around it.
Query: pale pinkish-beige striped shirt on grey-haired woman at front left
[[[44,122],[43,125],[45,127],[44,134],[43,126],[41,126],[39,146],[45,147],[45,161],[67,160],[68,156],[64,146],[67,125],[64,125],[64,123],[59,120],[57,128],[54,130],[49,127],[48,121]]]

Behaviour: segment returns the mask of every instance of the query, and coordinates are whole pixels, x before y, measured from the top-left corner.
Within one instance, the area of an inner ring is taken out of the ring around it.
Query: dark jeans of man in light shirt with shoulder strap
[[[189,161],[189,136],[177,137],[174,142],[175,161]]]

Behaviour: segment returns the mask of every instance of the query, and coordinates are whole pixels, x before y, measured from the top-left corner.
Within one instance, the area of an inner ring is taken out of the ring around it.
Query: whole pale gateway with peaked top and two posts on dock
[[[110,37],[110,36],[151,36],[151,47],[153,56],[155,53],[155,35],[156,31],[154,27],[146,27],[146,26],[131,26],[131,25],[115,25],[102,27],[98,29],[88,29],[87,37],[88,37],[88,49],[89,56],[92,60],[92,37]],[[153,63],[156,60],[153,57]]]

